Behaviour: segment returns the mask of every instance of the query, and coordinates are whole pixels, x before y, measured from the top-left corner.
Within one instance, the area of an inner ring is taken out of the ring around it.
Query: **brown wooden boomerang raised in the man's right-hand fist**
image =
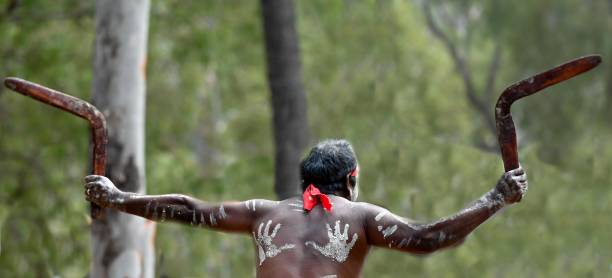
[[[581,57],[521,80],[504,90],[495,105],[495,125],[497,126],[497,139],[506,172],[519,167],[516,131],[512,115],[510,114],[512,103],[523,97],[535,94],[548,86],[589,71],[599,65],[599,63],[601,63],[601,56],[599,55]]]

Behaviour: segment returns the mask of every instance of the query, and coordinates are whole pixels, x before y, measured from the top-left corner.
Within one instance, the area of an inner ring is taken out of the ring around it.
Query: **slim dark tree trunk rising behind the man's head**
[[[279,199],[295,196],[299,163],[308,143],[306,96],[293,0],[262,0],[274,143],[274,191]]]

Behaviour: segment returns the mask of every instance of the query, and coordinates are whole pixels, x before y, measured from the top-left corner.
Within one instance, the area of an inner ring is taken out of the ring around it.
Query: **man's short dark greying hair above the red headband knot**
[[[302,190],[314,184],[322,193],[346,190],[347,176],[357,168],[357,156],[346,140],[328,139],[314,146],[300,163]],[[352,184],[356,181],[351,180]]]

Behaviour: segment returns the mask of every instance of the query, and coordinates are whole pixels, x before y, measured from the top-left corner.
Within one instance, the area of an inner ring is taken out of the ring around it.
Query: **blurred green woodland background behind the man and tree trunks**
[[[0,76],[91,99],[95,2],[0,8]],[[503,173],[491,121],[505,87],[601,54],[514,106],[530,185],[520,204],[456,249],[374,249],[363,276],[612,276],[612,1],[310,0],[295,15],[307,146],[351,141],[361,200],[419,221]],[[276,199],[260,2],[152,1],[148,36],[147,192]],[[87,138],[82,120],[0,89],[0,277],[87,275]],[[254,275],[248,237],[189,226],[157,225],[155,258],[159,277]]]

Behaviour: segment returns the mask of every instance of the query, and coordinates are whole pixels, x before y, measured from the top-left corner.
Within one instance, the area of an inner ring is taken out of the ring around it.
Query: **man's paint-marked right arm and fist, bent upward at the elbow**
[[[527,175],[521,169],[504,173],[497,185],[459,213],[433,223],[418,224],[386,209],[369,205],[365,225],[368,243],[428,254],[463,242],[476,227],[527,192]]]

